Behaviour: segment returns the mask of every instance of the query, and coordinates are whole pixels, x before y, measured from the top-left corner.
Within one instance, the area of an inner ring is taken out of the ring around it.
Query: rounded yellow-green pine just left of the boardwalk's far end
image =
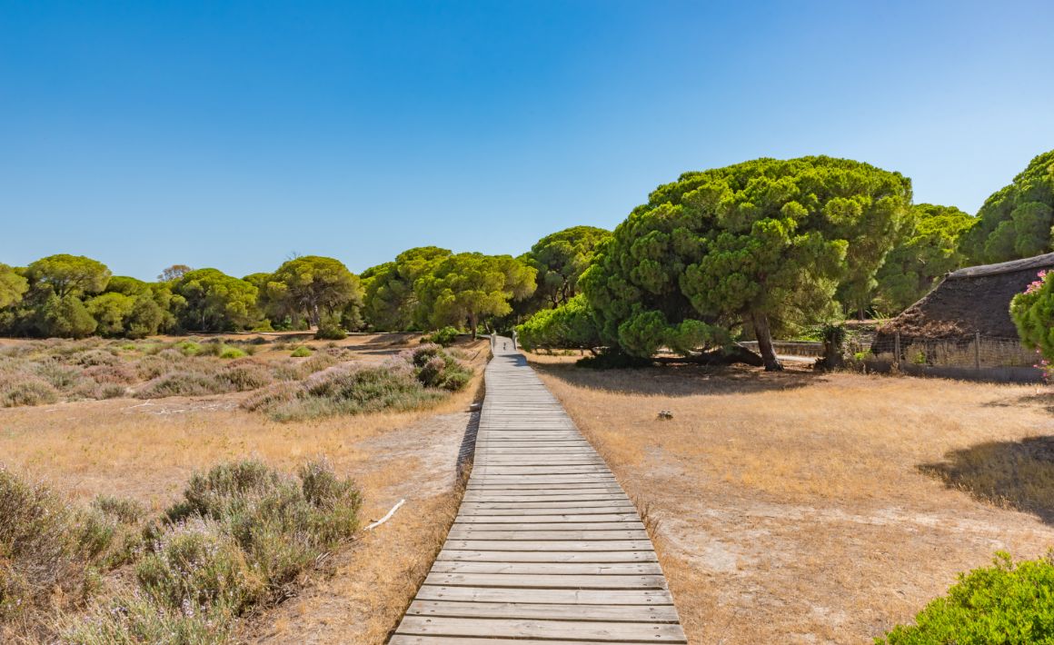
[[[417,299],[434,329],[468,322],[472,337],[488,316],[503,316],[509,301],[534,292],[533,267],[509,255],[458,253],[444,258],[415,282]]]

